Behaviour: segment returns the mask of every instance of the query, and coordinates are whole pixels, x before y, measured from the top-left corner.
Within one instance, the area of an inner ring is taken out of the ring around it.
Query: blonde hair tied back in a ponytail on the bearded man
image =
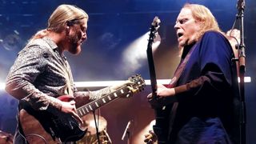
[[[31,39],[43,38],[50,31],[56,33],[62,32],[65,28],[66,22],[70,22],[74,19],[88,19],[89,16],[86,12],[77,6],[62,4],[58,6],[48,19],[48,26],[44,30],[39,30]]]

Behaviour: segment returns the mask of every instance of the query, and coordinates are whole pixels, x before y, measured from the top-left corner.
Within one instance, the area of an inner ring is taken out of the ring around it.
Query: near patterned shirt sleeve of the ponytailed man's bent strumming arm
[[[36,78],[46,67],[46,58],[46,48],[27,46],[18,54],[6,78],[6,92],[21,102],[29,103],[34,110],[61,108],[57,98],[42,93],[34,86]]]

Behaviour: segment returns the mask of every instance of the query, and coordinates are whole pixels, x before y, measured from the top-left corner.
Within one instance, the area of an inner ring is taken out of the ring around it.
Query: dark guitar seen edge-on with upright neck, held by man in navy
[[[155,125],[153,126],[154,134],[158,137],[158,143],[167,143],[168,142],[168,127],[169,127],[169,115],[171,106],[162,106],[159,105],[158,96],[156,94],[157,90],[157,79],[154,69],[154,58],[152,53],[152,44],[154,42],[154,38],[156,38],[156,34],[158,34],[158,28],[160,23],[160,19],[155,17],[150,28],[150,38],[147,45],[147,59],[150,69],[150,82],[151,82],[151,89],[152,89],[152,98],[150,99],[150,104],[155,112]],[[156,102],[156,105],[154,105]]]

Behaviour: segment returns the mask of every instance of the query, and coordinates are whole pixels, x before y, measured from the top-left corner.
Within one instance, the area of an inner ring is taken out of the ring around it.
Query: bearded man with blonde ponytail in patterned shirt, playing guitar
[[[62,143],[82,138],[82,119],[76,107],[133,83],[126,81],[90,92],[78,92],[75,88],[64,52],[81,52],[82,42],[87,38],[88,18],[88,14],[77,6],[60,5],[50,15],[47,28],[34,34],[18,53],[6,78],[6,91],[19,100],[14,143]],[[56,114],[60,118],[55,118]],[[70,121],[65,123],[67,118]],[[78,133],[74,126],[79,128]],[[74,135],[66,134],[71,130]]]

